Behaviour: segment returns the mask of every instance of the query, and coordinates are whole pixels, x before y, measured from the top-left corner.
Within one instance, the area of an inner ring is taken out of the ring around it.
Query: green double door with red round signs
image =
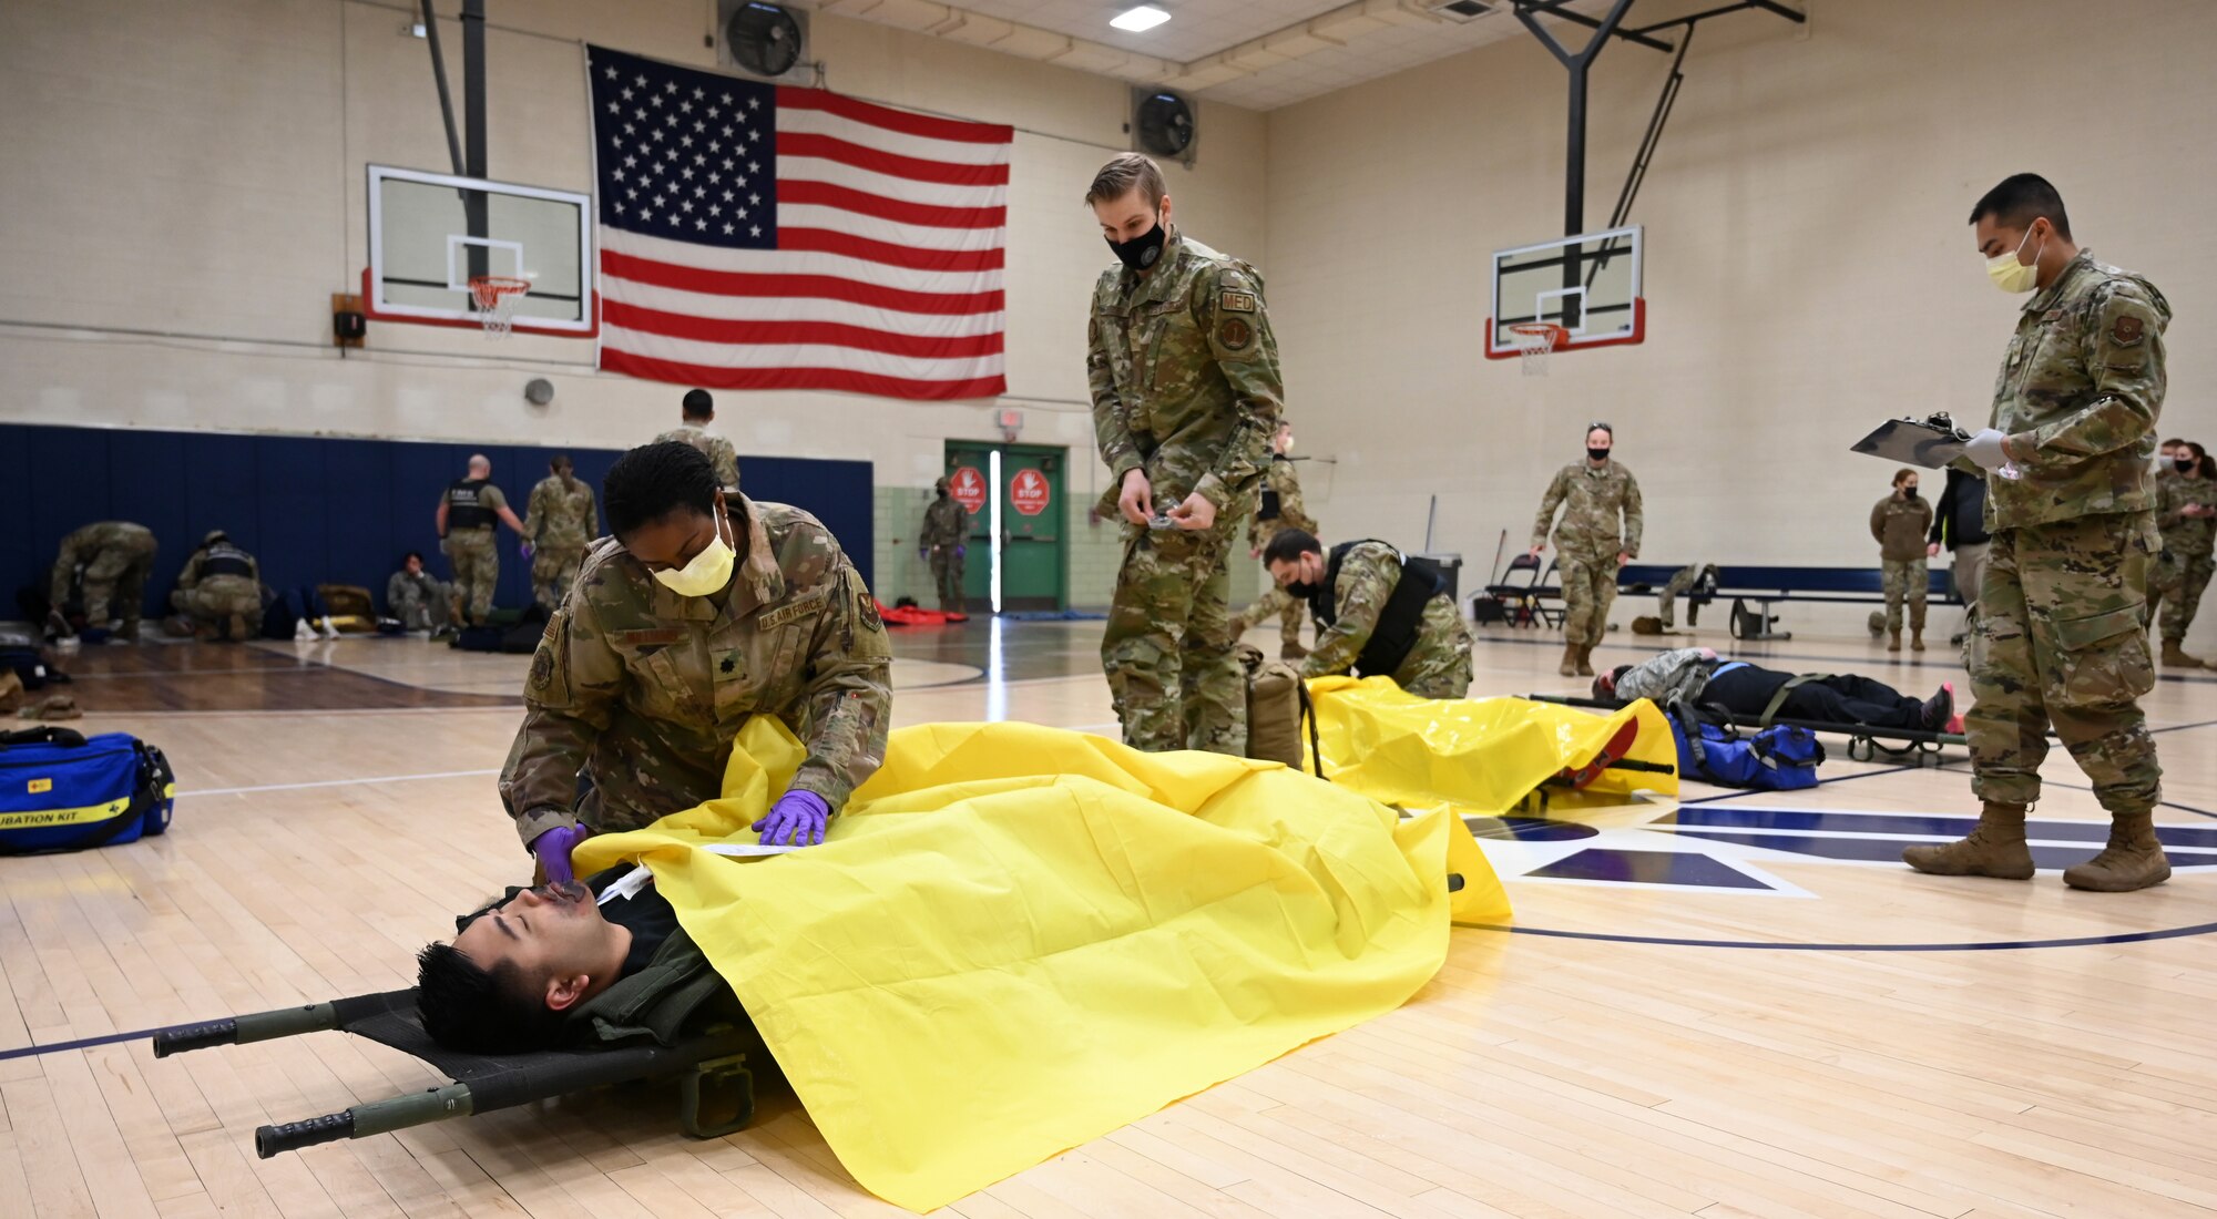
[[[962,596],[969,605],[991,610],[1064,610],[1069,605],[1069,556],[1062,545],[1062,523],[1069,503],[1062,501],[1066,450],[1049,445],[991,445],[975,441],[947,443],[947,474],[975,470],[975,479],[956,479],[973,488],[964,508],[971,510],[969,563],[962,570]],[[1000,527],[1000,545],[995,541]],[[993,576],[1000,576],[1000,601],[993,601]]]

